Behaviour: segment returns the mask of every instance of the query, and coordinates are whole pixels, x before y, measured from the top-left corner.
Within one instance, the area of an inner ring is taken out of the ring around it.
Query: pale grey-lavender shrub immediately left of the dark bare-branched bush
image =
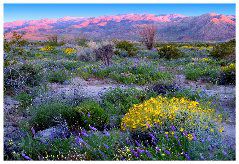
[[[96,55],[92,48],[82,48],[77,52],[77,58],[80,61],[90,62],[96,61]]]

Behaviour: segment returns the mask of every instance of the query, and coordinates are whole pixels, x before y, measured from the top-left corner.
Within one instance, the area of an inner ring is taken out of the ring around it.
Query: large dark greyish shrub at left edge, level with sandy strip
[[[7,91],[18,92],[40,83],[40,70],[30,64],[4,68],[4,87]]]

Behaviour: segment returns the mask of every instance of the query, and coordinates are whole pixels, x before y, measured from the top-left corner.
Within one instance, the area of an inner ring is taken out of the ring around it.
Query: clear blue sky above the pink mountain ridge
[[[4,4],[4,22],[118,14],[235,15],[235,4]]]

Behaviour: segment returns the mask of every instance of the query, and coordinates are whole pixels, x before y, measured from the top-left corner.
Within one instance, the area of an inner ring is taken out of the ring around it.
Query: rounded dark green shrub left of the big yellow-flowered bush
[[[92,100],[86,100],[80,103],[76,108],[76,112],[80,115],[79,122],[85,129],[95,127],[97,129],[103,129],[107,122],[107,114],[100,105]]]

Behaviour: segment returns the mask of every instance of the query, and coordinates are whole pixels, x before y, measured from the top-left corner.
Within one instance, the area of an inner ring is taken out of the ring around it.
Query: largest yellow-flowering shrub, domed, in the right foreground
[[[206,130],[215,128],[212,122],[217,120],[214,109],[203,107],[196,101],[158,96],[129,109],[122,118],[121,129],[144,131],[154,125],[165,128],[175,125],[180,131]]]

